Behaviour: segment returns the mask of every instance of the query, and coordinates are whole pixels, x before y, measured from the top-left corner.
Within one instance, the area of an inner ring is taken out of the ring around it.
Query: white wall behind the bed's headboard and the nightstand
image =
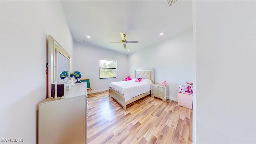
[[[143,48],[128,56],[129,72],[134,78],[136,68],[154,68],[155,82],[167,80],[169,99],[177,101],[178,85],[192,82],[192,29],[163,42]]]

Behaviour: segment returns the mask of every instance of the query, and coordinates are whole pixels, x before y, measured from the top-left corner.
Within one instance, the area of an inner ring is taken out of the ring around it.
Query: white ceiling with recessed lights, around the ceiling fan
[[[172,6],[167,0],[64,0],[62,6],[74,41],[123,54],[192,28],[192,0],[177,0]],[[110,43],[121,41],[120,32],[138,44],[124,49],[122,43]]]

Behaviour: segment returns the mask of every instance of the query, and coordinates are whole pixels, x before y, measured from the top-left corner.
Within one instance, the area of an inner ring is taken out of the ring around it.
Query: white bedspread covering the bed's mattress
[[[136,78],[128,81],[111,82],[109,87],[122,93],[125,102],[131,98],[148,92],[151,88],[151,80],[142,79],[140,82],[134,82]]]

